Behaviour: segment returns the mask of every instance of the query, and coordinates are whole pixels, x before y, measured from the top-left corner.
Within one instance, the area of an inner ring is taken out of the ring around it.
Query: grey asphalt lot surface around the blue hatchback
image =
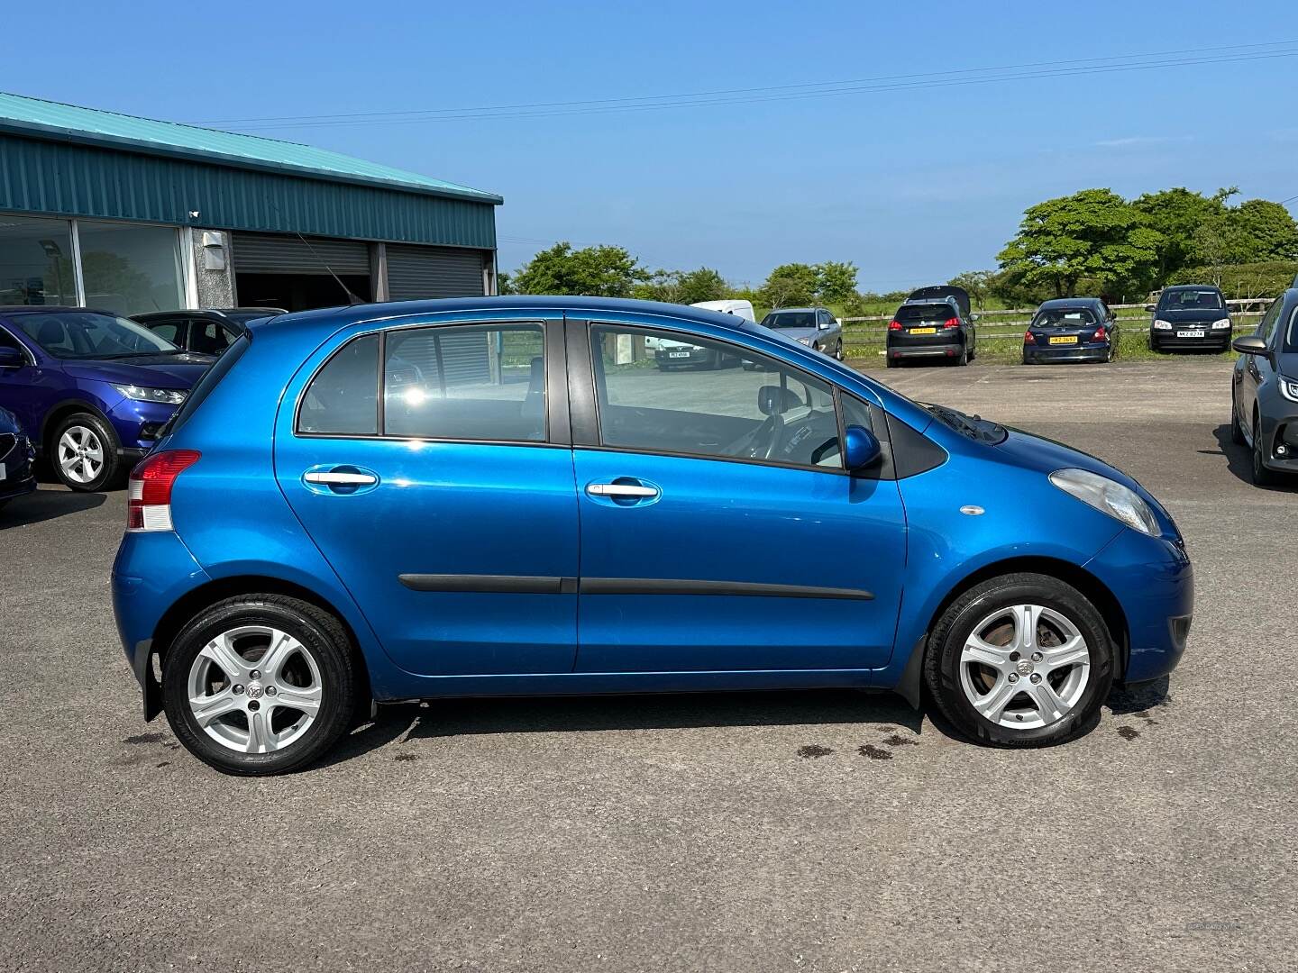
[[[1298,490],[1249,484],[1229,365],[880,378],[1166,502],[1169,682],[1038,751],[840,691],[405,704],[236,780],[140,721],[123,494],[43,485],[0,515],[0,969],[1293,969]]]

